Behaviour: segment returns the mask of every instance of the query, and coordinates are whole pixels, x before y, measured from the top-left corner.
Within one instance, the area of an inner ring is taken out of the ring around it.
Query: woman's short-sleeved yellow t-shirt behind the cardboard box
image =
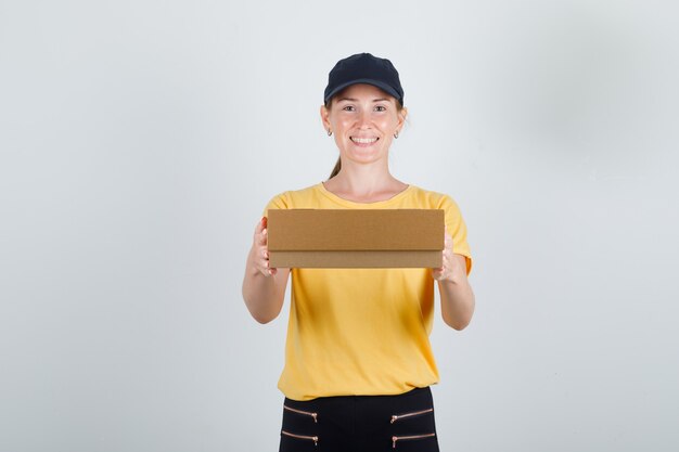
[[[387,201],[354,203],[322,183],[284,192],[268,209],[444,209],[453,253],[466,257],[466,227],[447,195],[409,185]],[[290,399],[397,395],[438,382],[430,333],[430,269],[292,269],[285,366],[279,388]]]

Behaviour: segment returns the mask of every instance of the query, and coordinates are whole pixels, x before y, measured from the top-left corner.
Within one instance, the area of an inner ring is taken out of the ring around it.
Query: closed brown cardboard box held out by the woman
[[[270,209],[271,268],[438,268],[444,211]]]

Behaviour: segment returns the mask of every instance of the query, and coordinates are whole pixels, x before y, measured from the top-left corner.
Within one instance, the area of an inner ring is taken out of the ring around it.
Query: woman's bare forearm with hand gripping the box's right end
[[[438,281],[444,322],[460,331],[471,322],[476,301],[466,279],[466,259],[452,253],[452,237],[447,232],[445,244],[443,267],[432,269],[432,276]]]

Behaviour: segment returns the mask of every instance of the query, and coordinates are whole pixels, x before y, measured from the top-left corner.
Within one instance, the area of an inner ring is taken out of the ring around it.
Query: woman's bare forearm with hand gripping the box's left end
[[[243,299],[252,317],[268,323],[281,312],[290,269],[270,269],[267,250],[267,219],[257,223],[243,277]]]

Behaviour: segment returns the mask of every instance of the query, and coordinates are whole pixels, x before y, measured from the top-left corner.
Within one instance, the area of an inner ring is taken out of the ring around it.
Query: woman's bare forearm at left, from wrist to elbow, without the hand
[[[282,277],[287,279],[287,272],[265,276],[252,263],[252,256],[248,256],[243,277],[243,299],[257,322],[268,323],[281,312],[285,297],[285,284],[279,281]]]

